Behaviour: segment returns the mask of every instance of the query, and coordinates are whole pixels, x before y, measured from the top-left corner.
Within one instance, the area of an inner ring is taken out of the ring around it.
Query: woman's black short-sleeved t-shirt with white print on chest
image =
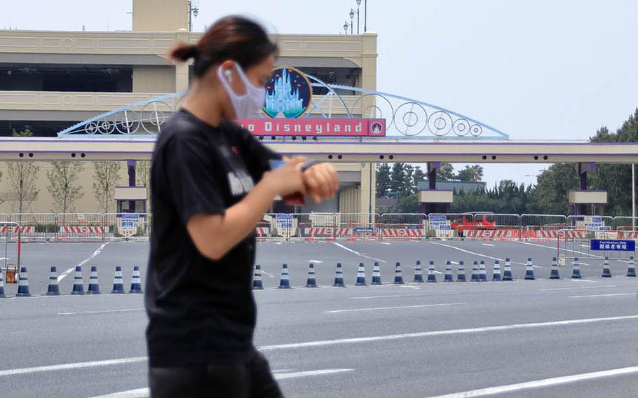
[[[231,121],[215,127],[180,109],[162,126],[151,166],[151,366],[252,357],[254,234],[212,261],[198,252],[186,221],[224,214],[259,182],[271,158],[278,156]]]

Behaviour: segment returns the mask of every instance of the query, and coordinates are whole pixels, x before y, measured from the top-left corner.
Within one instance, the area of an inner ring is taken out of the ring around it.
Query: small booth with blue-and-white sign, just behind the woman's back
[[[116,186],[116,233],[125,238],[144,235],[148,224],[147,188],[145,186]]]

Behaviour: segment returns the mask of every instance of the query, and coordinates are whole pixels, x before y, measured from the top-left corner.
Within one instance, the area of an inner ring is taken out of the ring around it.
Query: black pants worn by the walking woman
[[[149,369],[151,398],[283,398],[266,358],[246,364]]]

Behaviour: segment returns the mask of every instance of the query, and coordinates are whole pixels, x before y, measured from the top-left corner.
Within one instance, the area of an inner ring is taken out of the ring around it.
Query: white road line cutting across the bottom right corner
[[[552,385],[574,383],[576,381],[591,380],[593,378],[620,376],[620,375],[631,374],[631,373],[638,373],[638,366],[629,366],[627,368],[620,368],[620,369],[610,369],[608,371],[581,373],[581,374],[576,374],[572,376],[544,378],[541,380],[528,381],[526,383],[499,385],[498,387],[489,387],[489,388],[481,388],[480,390],[455,392],[454,394],[437,395],[436,397],[429,397],[429,398],[484,397],[485,395],[501,394],[503,392],[527,390],[529,388],[550,387]]]

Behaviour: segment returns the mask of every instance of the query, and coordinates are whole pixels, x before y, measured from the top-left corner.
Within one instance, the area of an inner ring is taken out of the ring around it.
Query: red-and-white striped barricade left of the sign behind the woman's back
[[[95,242],[109,234],[100,213],[60,213],[57,226],[57,240],[62,242]]]

